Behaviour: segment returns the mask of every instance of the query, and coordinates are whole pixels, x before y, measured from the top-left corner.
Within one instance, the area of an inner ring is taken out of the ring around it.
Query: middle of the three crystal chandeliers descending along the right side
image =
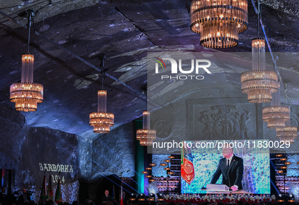
[[[284,128],[285,122],[290,119],[288,106],[280,105],[280,85],[278,91],[272,94],[271,106],[263,107],[263,120],[267,121],[269,129]]]

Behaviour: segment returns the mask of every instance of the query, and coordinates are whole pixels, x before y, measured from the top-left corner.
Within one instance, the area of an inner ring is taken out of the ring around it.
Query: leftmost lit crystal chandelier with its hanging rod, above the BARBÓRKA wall
[[[10,86],[10,100],[15,104],[16,110],[31,112],[36,111],[37,103],[41,103],[44,98],[44,86],[33,83],[33,63],[34,55],[29,54],[30,25],[35,17],[34,10],[26,11],[28,17],[28,52],[22,55],[21,83],[13,83]]]

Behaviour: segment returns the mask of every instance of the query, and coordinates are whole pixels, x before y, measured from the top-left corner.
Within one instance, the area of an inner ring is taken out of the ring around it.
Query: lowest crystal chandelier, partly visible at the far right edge
[[[291,126],[290,121],[285,122],[285,128],[277,128],[276,129],[276,137],[280,138],[280,141],[290,143],[294,143],[294,139],[297,137],[297,128],[295,126]]]

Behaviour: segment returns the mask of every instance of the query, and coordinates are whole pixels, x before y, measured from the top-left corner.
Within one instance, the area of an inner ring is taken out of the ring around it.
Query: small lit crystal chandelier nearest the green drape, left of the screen
[[[156,139],[156,130],[150,129],[150,112],[143,111],[142,129],[137,130],[137,140],[140,140],[140,145],[153,145],[153,140]]]

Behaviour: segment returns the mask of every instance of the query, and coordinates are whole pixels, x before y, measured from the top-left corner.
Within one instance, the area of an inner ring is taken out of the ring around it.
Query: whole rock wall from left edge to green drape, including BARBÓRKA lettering
[[[47,183],[49,175],[53,177],[54,195],[60,177],[63,200],[72,202],[78,198],[79,182],[99,184],[112,174],[135,176],[134,125],[120,126],[93,142],[59,130],[29,127],[20,112],[1,106],[0,169],[15,170],[12,190],[26,187],[35,201],[44,174]]]

